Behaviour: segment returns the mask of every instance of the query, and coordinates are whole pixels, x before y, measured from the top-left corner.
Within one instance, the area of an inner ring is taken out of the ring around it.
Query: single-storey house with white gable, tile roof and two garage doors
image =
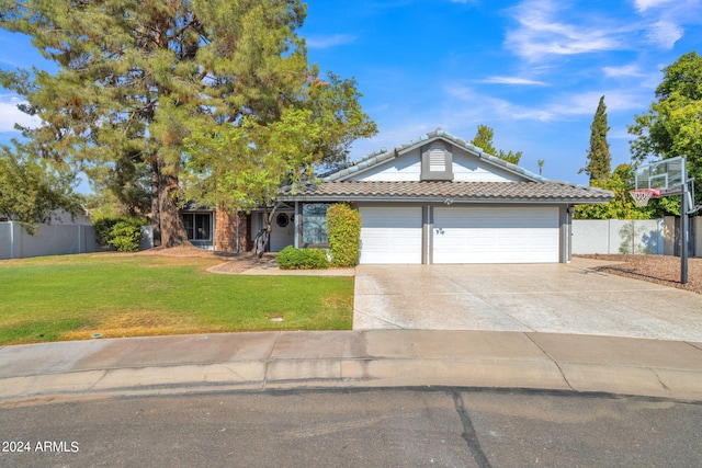
[[[363,218],[360,263],[565,263],[574,206],[611,198],[546,180],[437,128],[319,183],[284,187],[270,248],[328,247],[327,208],[352,203]],[[239,221],[246,243],[264,226],[256,212]]]

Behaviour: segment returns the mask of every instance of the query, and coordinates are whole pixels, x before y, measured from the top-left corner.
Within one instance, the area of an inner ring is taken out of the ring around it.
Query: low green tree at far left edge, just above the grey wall
[[[34,156],[15,142],[0,146],[0,216],[34,233],[34,224],[50,222],[57,210],[77,214],[82,197],[73,192],[76,174],[64,164]]]

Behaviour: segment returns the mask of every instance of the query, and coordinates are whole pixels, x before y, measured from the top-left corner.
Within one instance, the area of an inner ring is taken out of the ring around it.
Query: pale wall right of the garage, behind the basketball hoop
[[[575,219],[573,253],[664,254],[665,232],[663,219]]]

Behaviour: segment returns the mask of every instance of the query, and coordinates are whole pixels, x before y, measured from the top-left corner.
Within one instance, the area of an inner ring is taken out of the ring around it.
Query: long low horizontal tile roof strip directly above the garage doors
[[[607,203],[612,193],[565,182],[321,182],[293,190],[283,187],[280,199],[328,201],[440,201]]]

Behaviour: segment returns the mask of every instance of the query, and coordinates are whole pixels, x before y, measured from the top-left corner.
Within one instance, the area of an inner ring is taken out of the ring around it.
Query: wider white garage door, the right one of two
[[[435,208],[433,263],[557,263],[557,207]]]

